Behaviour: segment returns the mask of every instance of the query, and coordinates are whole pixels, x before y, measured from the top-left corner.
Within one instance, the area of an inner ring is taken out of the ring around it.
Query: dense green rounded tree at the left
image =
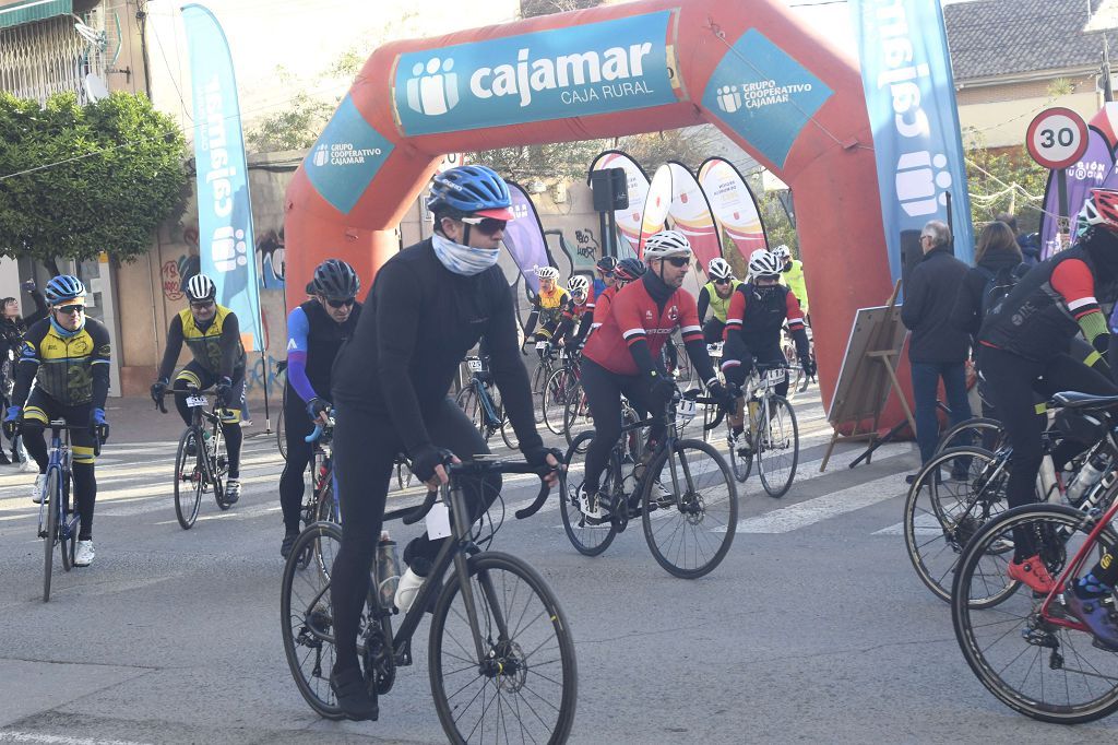
[[[0,255],[54,267],[145,254],[181,208],[184,152],[178,124],[142,95],[79,106],[59,93],[40,109],[0,92]]]

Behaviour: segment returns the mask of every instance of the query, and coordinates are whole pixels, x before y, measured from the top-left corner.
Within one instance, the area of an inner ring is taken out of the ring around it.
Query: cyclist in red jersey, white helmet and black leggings
[[[676,328],[683,336],[688,357],[711,394],[727,397],[707,355],[695,300],[682,289],[692,261],[686,236],[678,230],[656,233],[645,243],[644,260],[648,271],[617,293],[609,315],[582,350],[581,383],[595,427],[586,453],[584,503],[596,504],[591,511],[603,517],[614,508],[610,496],[599,491],[599,485],[609,452],[620,437],[622,395],[637,412],[663,409],[675,392],[675,384],[665,372],[660,352]],[[618,275],[625,261],[617,267]],[[642,461],[647,461],[663,435],[664,423],[657,421],[648,433]]]

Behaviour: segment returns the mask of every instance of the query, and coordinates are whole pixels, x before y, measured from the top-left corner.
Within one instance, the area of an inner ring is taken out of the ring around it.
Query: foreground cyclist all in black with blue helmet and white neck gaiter
[[[490,371],[521,452],[536,465],[559,463],[536,431],[513,298],[496,265],[504,226],[513,219],[504,180],[489,168],[459,166],[435,176],[427,201],[434,235],[380,267],[353,337],[334,364],[334,472],[343,520],[331,574],[337,661],[330,683],[351,719],[378,715],[358,663],[357,634],[397,454],[406,452],[415,474],[434,488],[447,481],[448,452],[462,458],[489,452],[446,396],[459,362],[479,340],[487,342]],[[496,497],[500,480],[465,488],[476,519]],[[405,549],[408,568],[396,593],[401,612],[414,602],[444,540],[424,534]]]

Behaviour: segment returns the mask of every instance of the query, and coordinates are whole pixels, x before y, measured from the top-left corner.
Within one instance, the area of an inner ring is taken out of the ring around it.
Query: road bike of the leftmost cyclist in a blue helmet
[[[77,553],[77,536],[82,528],[82,516],[70,503],[73,483],[70,430],[87,430],[86,426],[68,425],[64,419],[51,419],[50,451],[47,463],[46,484],[42,502],[39,504],[38,536],[42,538],[42,602],[50,600],[50,577],[54,570],[55,546],[59,548],[63,569],[74,567]],[[94,456],[101,454],[101,443],[94,440]]]

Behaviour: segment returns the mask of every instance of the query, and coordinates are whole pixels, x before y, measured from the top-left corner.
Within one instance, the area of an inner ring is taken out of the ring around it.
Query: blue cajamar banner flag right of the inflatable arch
[[[928,0],[851,0],[873,129],[889,271],[901,275],[901,233],[947,221],[955,255],[974,256],[966,163],[944,11]]]

